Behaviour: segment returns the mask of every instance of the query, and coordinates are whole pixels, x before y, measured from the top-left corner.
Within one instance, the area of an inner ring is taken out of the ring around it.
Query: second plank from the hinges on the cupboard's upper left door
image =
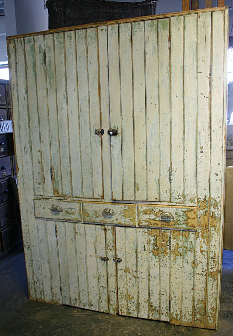
[[[56,69],[56,95],[57,116],[59,124],[59,143],[61,153],[61,173],[63,195],[72,196],[71,170],[70,170],[70,144],[67,112],[67,87],[64,34],[54,34],[55,69]]]

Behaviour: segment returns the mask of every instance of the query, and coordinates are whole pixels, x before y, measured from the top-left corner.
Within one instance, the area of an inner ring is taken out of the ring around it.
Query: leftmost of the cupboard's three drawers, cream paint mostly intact
[[[81,222],[81,203],[62,200],[34,199],[35,217]]]

